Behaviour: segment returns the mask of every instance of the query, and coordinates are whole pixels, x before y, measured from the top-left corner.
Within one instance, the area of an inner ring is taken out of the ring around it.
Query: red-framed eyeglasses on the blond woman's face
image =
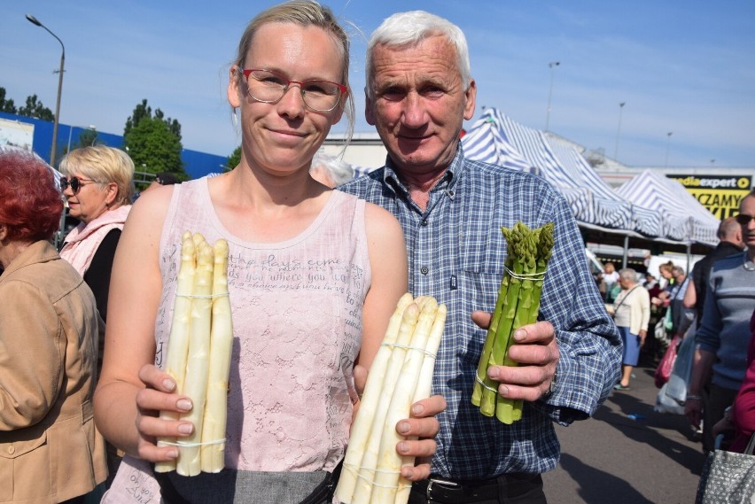
[[[246,92],[258,102],[276,104],[292,84],[298,84],[304,105],[317,112],[330,112],[348,90],[331,81],[289,81],[283,74],[259,68],[239,68],[246,80]]]

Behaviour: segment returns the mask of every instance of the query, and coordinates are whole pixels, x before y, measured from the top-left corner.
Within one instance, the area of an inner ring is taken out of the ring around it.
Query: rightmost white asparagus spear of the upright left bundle
[[[213,318],[210,330],[210,362],[207,399],[202,424],[202,471],[220,472],[225,467],[225,428],[228,416],[228,374],[233,350],[233,324],[228,297],[228,242],[213,244]]]

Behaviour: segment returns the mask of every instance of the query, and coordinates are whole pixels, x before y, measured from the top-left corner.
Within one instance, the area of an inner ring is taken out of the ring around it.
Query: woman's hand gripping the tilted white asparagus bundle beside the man
[[[357,364],[354,366],[354,387],[362,397],[364,385],[367,384],[367,369]],[[354,415],[359,403],[354,407]],[[396,424],[396,432],[407,438],[396,446],[396,453],[416,457],[414,467],[401,468],[401,476],[410,481],[419,481],[430,476],[430,458],[438,448],[435,436],[440,430],[440,423],[435,418],[446,409],[446,399],[442,396],[432,396],[416,401],[411,406],[409,418]],[[353,419],[352,419],[353,421]]]

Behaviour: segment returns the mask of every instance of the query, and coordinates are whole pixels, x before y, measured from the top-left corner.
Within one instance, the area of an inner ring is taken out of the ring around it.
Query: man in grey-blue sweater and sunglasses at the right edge
[[[742,198],[736,221],[747,249],[713,263],[684,405],[694,427],[703,421],[706,452],[713,448],[712,428],[734,402],[747,366],[748,323],[755,309],[755,190]]]

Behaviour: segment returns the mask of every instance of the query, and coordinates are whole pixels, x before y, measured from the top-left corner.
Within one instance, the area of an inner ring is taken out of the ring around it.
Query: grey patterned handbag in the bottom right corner
[[[716,439],[718,446],[720,438]],[[755,433],[742,454],[716,447],[705,459],[695,504],[751,504],[755,502]]]

